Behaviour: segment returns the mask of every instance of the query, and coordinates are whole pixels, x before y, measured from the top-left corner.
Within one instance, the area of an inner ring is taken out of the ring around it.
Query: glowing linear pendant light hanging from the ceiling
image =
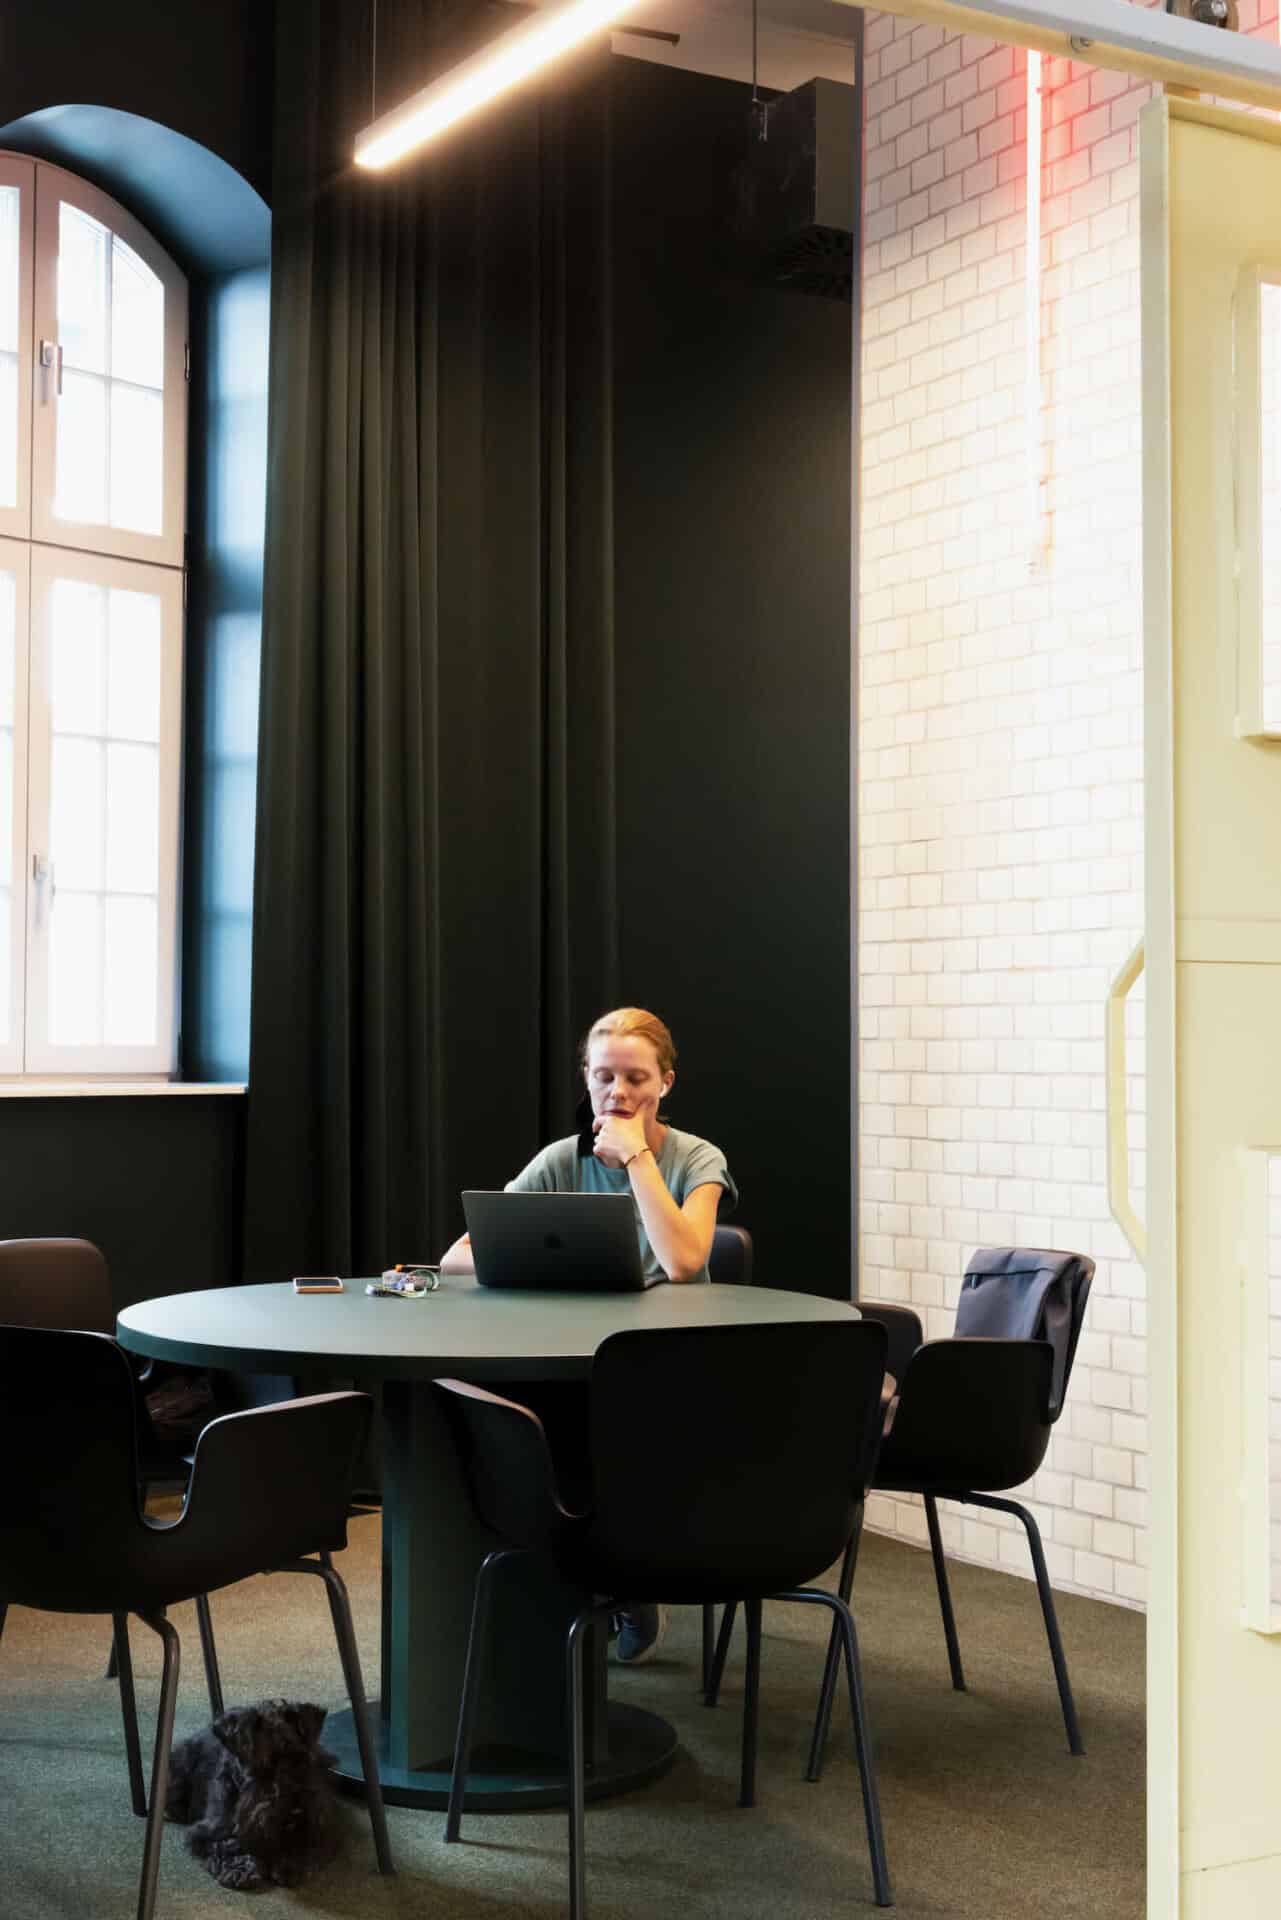
[[[609,27],[632,6],[636,0],[567,0],[563,6],[542,8],[357,134],[357,165],[390,167],[415,146],[434,140],[446,127]]]

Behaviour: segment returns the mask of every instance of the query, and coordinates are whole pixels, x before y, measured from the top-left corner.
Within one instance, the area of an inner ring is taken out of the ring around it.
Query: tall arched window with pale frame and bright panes
[[[177,1064],[186,280],[0,154],[0,1073]]]

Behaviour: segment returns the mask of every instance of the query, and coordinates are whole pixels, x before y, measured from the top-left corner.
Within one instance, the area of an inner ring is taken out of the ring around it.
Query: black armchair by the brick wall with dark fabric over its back
[[[924,1496],[953,1686],[964,1692],[966,1678],[947,1584],[939,1500],[993,1507],[1022,1521],[1074,1755],[1085,1749],[1041,1530],[1027,1507],[1001,1498],[1001,1490],[1022,1486],[1045,1459],[1052,1425],[1064,1407],[1093,1277],[1095,1263],[1085,1254],[979,1248],[960,1286],[953,1338],[926,1344],[920,1319],[910,1308],[858,1302],[864,1319],[885,1327],[889,1371],[899,1382],[872,1486]],[[858,1542],[851,1540],[839,1580],[845,1599],[853,1588],[857,1553]],[[830,1647],[814,1724],[814,1780],[822,1764],[835,1674],[837,1661]]]

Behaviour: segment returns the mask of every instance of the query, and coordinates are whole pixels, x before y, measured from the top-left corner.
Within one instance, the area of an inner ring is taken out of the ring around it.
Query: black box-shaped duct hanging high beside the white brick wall
[[[737,225],[772,286],[851,300],[858,207],[858,92],[807,81],[768,104],[737,175]]]

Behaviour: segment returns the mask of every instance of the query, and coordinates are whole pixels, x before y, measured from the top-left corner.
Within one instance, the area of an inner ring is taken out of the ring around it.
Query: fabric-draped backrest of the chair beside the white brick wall
[[[1051,1421],[1062,1413],[1093,1277],[1095,1261],[1085,1254],[981,1246],[960,1283],[960,1338],[1049,1340],[1052,1346]]]

